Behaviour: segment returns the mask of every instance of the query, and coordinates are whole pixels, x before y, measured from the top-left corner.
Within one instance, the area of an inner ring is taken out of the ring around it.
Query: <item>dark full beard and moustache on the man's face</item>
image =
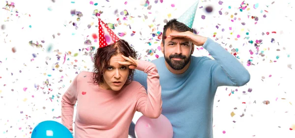
[[[186,56],[182,55],[182,54],[180,54],[180,55],[174,54],[174,55],[169,55],[169,57],[166,57],[165,52],[164,52],[164,58],[165,58],[166,62],[174,70],[183,69],[188,64],[188,62],[190,61],[190,57],[191,57],[191,55],[189,55],[186,58]],[[184,59],[184,60],[173,60],[171,58],[181,58],[181,59]]]

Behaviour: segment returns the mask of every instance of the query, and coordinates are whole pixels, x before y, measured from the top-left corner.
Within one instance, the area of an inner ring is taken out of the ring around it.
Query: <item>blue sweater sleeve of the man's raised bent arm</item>
[[[216,61],[211,73],[217,86],[242,86],[249,82],[250,74],[247,69],[220,44],[207,38],[203,47]]]

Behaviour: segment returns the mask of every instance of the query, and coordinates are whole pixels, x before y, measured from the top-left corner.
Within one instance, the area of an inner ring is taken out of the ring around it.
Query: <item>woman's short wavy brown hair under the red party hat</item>
[[[113,55],[122,54],[126,57],[131,56],[137,59],[137,52],[126,42],[120,39],[118,42],[108,45],[103,48],[98,48],[93,55],[93,83],[103,83],[103,74],[110,64],[110,59]],[[134,70],[129,69],[128,80],[132,81]]]

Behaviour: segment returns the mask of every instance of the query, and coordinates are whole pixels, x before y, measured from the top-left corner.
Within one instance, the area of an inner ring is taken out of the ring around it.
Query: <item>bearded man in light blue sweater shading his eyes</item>
[[[218,86],[242,86],[249,82],[245,67],[218,43],[193,33],[176,19],[163,30],[156,65],[162,87],[163,111],[171,122],[173,138],[212,138],[213,101]],[[193,56],[194,45],[203,46],[215,59]],[[134,81],[147,87],[147,75],[137,71]],[[134,124],[130,132],[134,132]],[[134,135],[129,133],[129,135]]]

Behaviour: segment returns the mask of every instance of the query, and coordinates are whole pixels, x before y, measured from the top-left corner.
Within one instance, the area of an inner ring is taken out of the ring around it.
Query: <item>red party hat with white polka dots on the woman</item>
[[[119,40],[118,36],[100,18],[98,18],[98,34],[99,48],[111,45]]]

